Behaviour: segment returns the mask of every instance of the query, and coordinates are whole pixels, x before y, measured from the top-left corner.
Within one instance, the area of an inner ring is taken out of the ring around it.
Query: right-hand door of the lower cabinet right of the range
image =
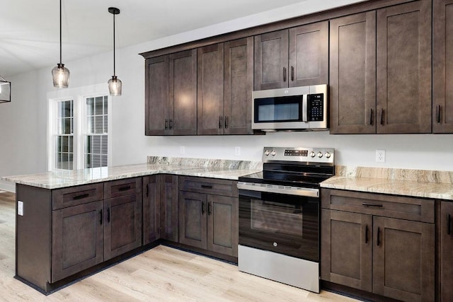
[[[434,224],[373,219],[374,294],[401,301],[434,301]]]

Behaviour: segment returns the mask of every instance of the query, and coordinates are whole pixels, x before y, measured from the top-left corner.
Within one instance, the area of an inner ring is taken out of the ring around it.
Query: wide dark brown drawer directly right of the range
[[[321,190],[321,207],[434,223],[434,200],[346,190]]]

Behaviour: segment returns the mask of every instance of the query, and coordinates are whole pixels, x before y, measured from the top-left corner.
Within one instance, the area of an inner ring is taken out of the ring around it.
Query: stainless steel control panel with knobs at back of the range
[[[335,149],[306,147],[264,147],[263,163],[270,161],[299,161],[334,163]]]

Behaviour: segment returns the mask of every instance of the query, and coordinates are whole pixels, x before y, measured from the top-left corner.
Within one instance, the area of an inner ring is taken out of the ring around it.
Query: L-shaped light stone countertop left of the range
[[[161,158],[149,157],[149,163],[81,170],[58,170],[30,175],[6,176],[2,177],[1,180],[45,189],[57,189],[161,173],[238,180],[240,176],[262,170],[259,162],[252,161],[209,160],[211,165],[205,166],[205,161],[200,159],[196,159],[196,163],[192,162],[191,159],[184,159],[179,161],[179,164],[159,160]]]

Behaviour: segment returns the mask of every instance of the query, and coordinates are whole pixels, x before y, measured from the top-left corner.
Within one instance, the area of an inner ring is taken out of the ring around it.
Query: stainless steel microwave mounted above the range
[[[252,129],[328,129],[326,84],[253,91],[252,99]]]

